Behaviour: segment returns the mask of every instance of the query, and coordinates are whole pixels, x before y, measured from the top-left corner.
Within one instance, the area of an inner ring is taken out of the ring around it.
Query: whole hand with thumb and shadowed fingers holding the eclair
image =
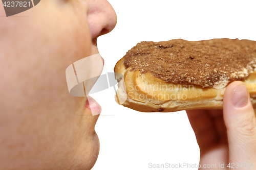
[[[256,118],[244,83],[227,86],[223,110],[186,112],[200,148],[200,165],[256,169]]]

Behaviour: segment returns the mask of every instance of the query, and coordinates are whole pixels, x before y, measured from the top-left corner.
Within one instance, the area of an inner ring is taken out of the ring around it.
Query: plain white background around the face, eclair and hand
[[[117,25],[98,38],[105,61],[102,74],[113,72],[116,62],[140,41],[256,40],[256,1],[109,2],[116,11]],[[153,169],[148,163],[199,163],[199,147],[185,111],[134,111],[115,102],[113,87],[91,96],[102,107],[95,127],[100,153],[93,170]]]

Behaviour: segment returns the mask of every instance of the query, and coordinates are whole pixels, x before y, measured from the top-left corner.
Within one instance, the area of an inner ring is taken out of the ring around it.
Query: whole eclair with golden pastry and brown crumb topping
[[[142,41],[114,71],[124,81],[117,103],[142,112],[222,108],[225,88],[233,81],[246,84],[256,106],[256,41]]]

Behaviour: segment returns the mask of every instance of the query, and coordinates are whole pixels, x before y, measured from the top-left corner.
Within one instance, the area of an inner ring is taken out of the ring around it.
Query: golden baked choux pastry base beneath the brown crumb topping
[[[141,112],[173,112],[189,109],[221,109],[223,94],[230,83],[220,83],[215,87],[203,87],[191,83],[171,83],[161,80],[150,71],[125,68],[120,59],[115,72],[123,75],[119,82],[115,100],[118,104]],[[116,76],[117,80],[121,77]],[[256,107],[256,71],[251,71],[242,82],[248,88],[252,105]]]

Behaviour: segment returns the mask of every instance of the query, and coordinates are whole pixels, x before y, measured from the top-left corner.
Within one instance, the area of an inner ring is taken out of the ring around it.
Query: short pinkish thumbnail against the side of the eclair
[[[246,85],[237,86],[232,93],[232,103],[234,107],[244,107],[248,103],[248,91]]]

